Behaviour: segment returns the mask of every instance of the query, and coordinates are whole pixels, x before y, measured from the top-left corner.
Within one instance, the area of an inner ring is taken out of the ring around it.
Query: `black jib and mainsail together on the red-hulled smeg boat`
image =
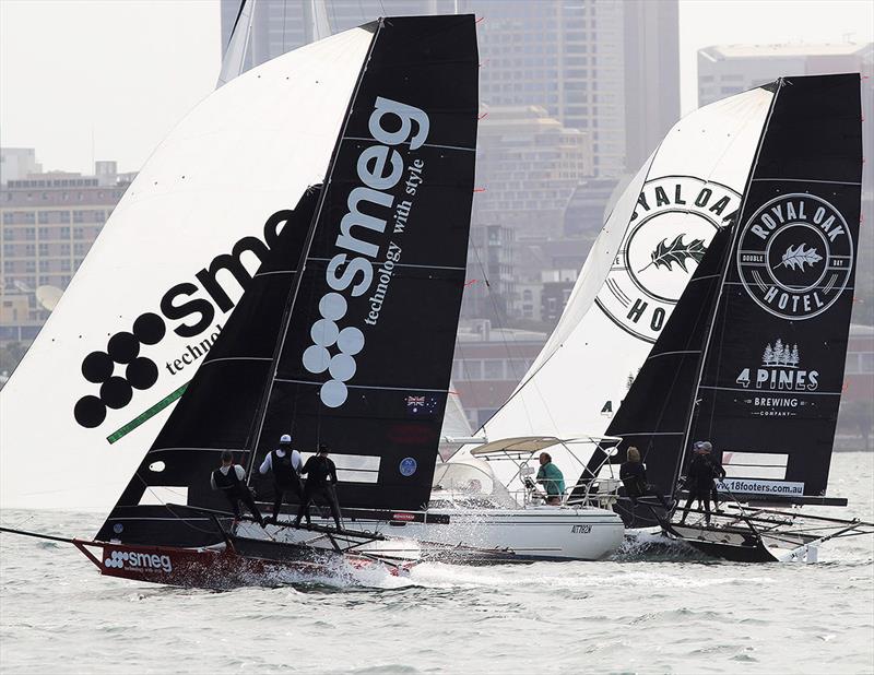
[[[99,537],[214,541],[200,517],[150,496],[222,508],[217,453],[251,471],[288,431],[302,450],[330,447],[344,507],[427,501],[464,282],[477,69],[472,16],[374,26],[324,187],[269,220],[270,254]]]

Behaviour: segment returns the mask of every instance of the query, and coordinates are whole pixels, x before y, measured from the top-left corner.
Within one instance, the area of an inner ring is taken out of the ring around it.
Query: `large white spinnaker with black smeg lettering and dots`
[[[0,392],[2,508],[116,501],[268,250],[265,223],[323,180],[371,36],[244,73],[150,157]]]

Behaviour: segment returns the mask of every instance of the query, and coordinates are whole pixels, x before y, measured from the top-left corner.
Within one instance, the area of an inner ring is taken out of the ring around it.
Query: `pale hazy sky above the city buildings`
[[[700,47],[870,42],[874,2],[681,0],[680,31],[688,111]],[[215,86],[218,35],[217,0],[0,0],[0,144],[35,147],[45,169],[137,170]]]

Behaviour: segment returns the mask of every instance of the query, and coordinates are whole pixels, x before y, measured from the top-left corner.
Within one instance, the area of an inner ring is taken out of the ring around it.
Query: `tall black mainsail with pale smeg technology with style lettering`
[[[326,183],[256,461],[326,443],[344,507],[427,501],[464,283],[472,16],[380,22]],[[350,475],[350,474],[347,474]],[[342,476],[341,476],[342,477]]]

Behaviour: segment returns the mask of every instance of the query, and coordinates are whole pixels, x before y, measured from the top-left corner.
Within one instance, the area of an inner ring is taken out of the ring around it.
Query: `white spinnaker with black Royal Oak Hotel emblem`
[[[543,351],[484,426],[491,440],[606,429],[705,248],[740,206],[771,98],[752,90],[671,129],[616,203]],[[554,460],[566,477],[580,475],[574,458]]]

